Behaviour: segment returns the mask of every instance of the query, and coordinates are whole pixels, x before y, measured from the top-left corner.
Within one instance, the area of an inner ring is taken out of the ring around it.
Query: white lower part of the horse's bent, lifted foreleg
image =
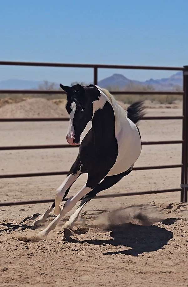
[[[60,214],[60,202],[62,201],[65,192],[67,190],[67,188],[69,188],[78,178],[78,176],[81,174],[81,171],[78,171],[76,174],[70,174],[69,176],[67,176],[65,178],[65,180],[63,181],[63,183],[60,185],[60,187],[58,187],[58,189],[56,190],[56,196],[55,196],[55,208],[54,208],[54,214],[58,215]]]

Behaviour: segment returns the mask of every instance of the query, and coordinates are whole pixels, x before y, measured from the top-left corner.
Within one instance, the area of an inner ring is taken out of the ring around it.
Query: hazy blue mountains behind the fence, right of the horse
[[[169,78],[163,79],[149,79],[144,82],[137,81],[137,80],[130,80],[123,76],[122,74],[113,74],[110,77],[107,77],[98,82],[98,85],[102,88],[110,87],[119,87],[123,89],[126,86],[134,86],[134,85],[141,85],[141,86],[153,86],[155,90],[173,90],[177,85],[182,88],[183,86],[183,75],[182,72],[178,72]]]

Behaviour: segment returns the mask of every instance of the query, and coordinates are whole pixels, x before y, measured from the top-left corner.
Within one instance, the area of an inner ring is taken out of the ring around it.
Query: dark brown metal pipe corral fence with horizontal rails
[[[183,114],[182,116],[144,116],[143,120],[182,120],[182,139],[170,140],[170,141],[150,141],[142,142],[143,145],[155,145],[155,144],[181,144],[182,146],[182,158],[181,164],[176,165],[159,165],[159,166],[144,166],[135,167],[133,170],[152,170],[152,169],[168,169],[168,168],[181,168],[181,183],[180,187],[173,189],[143,191],[143,192],[129,192],[101,195],[96,198],[108,198],[108,197],[121,197],[131,195],[143,195],[143,194],[156,194],[163,192],[177,192],[180,191],[180,201],[187,202],[187,172],[188,172],[188,66],[184,67],[154,67],[154,66],[124,66],[124,65],[101,65],[101,64],[65,64],[65,63],[43,63],[43,62],[7,62],[0,61],[0,65],[9,66],[39,66],[39,67],[66,67],[66,68],[93,68],[94,78],[93,84],[97,85],[97,73],[98,69],[139,69],[139,70],[166,70],[166,71],[182,71],[183,72],[183,91],[110,91],[114,95],[182,95],[183,97]],[[65,94],[61,91],[46,91],[46,90],[0,90],[0,94]],[[0,118],[0,122],[41,122],[41,121],[69,121],[68,118]],[[20,149],[55,149],[55,148],[72,148],[68,144],[58,145],[31,145],[31,146],[1,146],[0,150],[20,150]],[[35,173],[23,173],[23,174],[5,174],[0,175],[0,178],[17,178],[17,177],[30,177],[30,176],[53,176],[53,175],[66,175],[68,171],[51,171],[51,172],[35,172]],[[43,200],[30,200],[30,201],[17,201],[17,202],[0,202],[0,206],[10,205],[22,205],[33,203],[47,203],[52,202],[54,199]],[[66,200],[66,199],[65,199]]]

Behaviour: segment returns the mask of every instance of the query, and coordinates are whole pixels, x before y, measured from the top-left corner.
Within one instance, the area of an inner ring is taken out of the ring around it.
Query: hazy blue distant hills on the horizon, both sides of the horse
[[[38,89],[39,85],[43,85],[44,81],[30,81],[20,79],[9,79],[0,81],[0,89]],[[50,84],[50,82],[49,82]],[[131,85],[152,86],[155,90],[173,90],[177,86],[182,88],[183,76],[182,72],[178,72],[169,78],[163,79],[149,79],[147,81],[130,80],[122,74],[113,74],[98,82],[98,85],[102,88],[118,87],[120,90],[129,88]],[[55,88],[59,88],[59,84],[55,83]]]

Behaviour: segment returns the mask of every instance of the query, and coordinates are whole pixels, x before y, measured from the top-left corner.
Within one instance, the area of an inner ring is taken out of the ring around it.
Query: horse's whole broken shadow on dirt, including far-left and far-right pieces
[[[26,229],[33,229],[26,222],[28,220],[34,220],[39,214],[34,214],[23,219],[19,224],[13,223],[3,223],[4,227],[1,232],[11,232],[11,231],[24,231]],[[165,225],[172,225],[179,218],[169,218],[162,221]],[[100,239],[92,239],[92,240],[78,240],[75,239],[74,236],[80,235],[82,233],[86,233],[89,230],[88,228],[77,228],[74,231],[69,229],[64,229],[64,237],[67,242],[72,243],[89,243],[93,245],[102,245],[102,244],[111,244],[113,246],[126,246],[131,247],[131,249],[125,249],[120,251],[108,251],[105,252],[105,255],[112,254],[127,254],[138,256],[143,252],[151,252],[157,251],[163,248],[168,241],[173,238],[173,233],[171,231],[166,230],[165,228],[161,228],[157,225],[151,226],[142,226],[142,225],[134,225],[131,223],[123,223],[122,225],[111,225],[108,228],[110,230],[111,239],[100,240]]]

